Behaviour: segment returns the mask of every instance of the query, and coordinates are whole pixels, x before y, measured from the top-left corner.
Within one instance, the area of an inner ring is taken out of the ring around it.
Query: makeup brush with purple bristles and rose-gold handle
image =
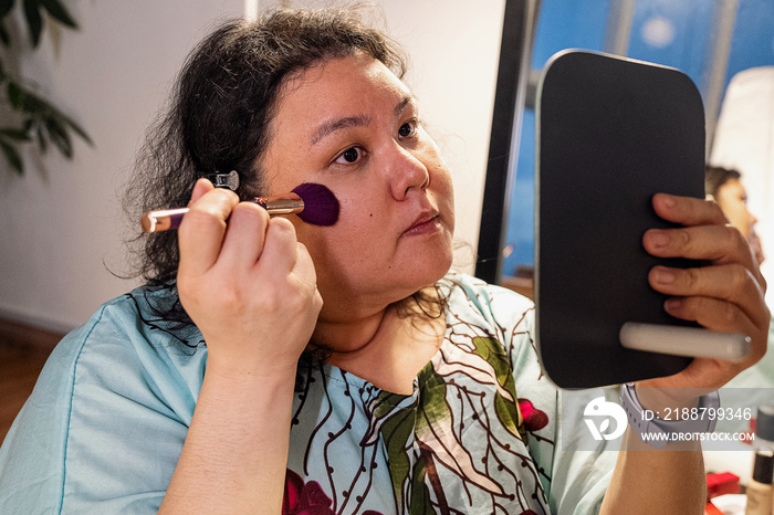
[[[290,193],[273,197],[257,197],[252,202],[264,208],[269,214],[296,213],[313,225],[333,225],[338,221],[338,200],[333,192],[314,182],[299,185]],[[143,214],[143,232],[161,232],[177,229],[188,208],[160,209]]]

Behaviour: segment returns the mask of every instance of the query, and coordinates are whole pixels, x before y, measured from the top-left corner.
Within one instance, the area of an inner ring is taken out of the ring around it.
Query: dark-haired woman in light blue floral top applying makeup
[[[561,448],[532,305],[449,273],[450,176],[401,63],[384,35],[338,10],[227,24],[194,52],[135,202],[176,206],[192,189],[190,211],[177,234],[148,242],[148,286],[106,304],[52,356],[3,446],[0,508],[703,506],[698,444],[629,452],[649,448],[627,435],[618,454]],[[239,197],[197,180],[230,169]],[[336,224],[270,220],[239,201],[305,182],[335,193]],[[638,385],[648,408],[691,406],[695,393],[677,388],[709,391],[760,358],[763,280],[713,204],[657,196],[653,206],[687,228],[649,232],[649,252],[713,260],[651,271],[673,295],[666,308],[754,343],[743,364],[694,360]]]

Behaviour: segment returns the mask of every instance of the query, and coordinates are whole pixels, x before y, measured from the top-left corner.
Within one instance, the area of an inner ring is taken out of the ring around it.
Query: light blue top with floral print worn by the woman
[[[584,424],[562,420],[563,393],[541,371],[532,304],[447,280],[446,338],[412,395],[332,366],[305,377],[285,514],[598,511],[616,453],[564,445]],[[0,513],[156,513],[207,364],[198,329],[150,309],[159,295],[106,303],[54,349],[0,448]]]

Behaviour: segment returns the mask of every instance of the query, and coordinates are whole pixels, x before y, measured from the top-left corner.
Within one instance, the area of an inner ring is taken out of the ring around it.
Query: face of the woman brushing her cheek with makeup
[[[384,308],[451,266],[449,171],[416,99],[379,61],[331,60],[287,81],[262,164],[270,195],[317,182],[341,202],[332,227],[291,217],[315,263],[321,317]]]

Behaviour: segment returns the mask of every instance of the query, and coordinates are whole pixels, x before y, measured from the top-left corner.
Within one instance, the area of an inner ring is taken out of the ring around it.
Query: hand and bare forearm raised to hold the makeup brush
[[[161,512],[190,511],[222,492],[230,509],[280,506],[296,364],[323,305],[312,258],[289,220],[206,179],[178,241],[180,302],[208,356]]]

